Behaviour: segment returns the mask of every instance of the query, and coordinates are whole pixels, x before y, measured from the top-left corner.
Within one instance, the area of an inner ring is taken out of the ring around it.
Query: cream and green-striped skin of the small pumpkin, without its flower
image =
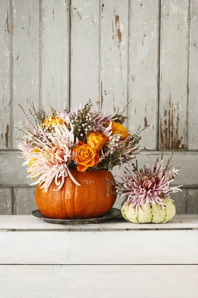
[[[166,205],[164,206],[164,209],[158,204],[151,203],[149,204],[148,209],[144,204],[136,215],[136,208],[131,207],[131,204],[129,204],[122,209],[121,213],[125,220],[134,224],[165,224],[175,216],[176,208],[172,201],[165,198],[163,198],[162,201]]]

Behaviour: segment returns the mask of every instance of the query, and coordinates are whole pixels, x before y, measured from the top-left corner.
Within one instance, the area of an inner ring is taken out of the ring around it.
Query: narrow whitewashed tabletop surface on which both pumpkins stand
[[[48,224],[30,215],[0,216],[0,229],[15,230],[139,230],[139,229],[198,229],[198,215],[176,215],[166,224],[133,224],[122,217],[103,224]]]

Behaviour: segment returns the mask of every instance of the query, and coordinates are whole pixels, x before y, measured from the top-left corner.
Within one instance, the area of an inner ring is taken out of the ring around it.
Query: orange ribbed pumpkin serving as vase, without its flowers
[[[49,219],[92,219],[105,215],[116,199],[114,178],[107,170],[78,172],[70,169],[76,185],[69,176],[60,190],[54,180],[47,192],[37,185],[36,204]]]

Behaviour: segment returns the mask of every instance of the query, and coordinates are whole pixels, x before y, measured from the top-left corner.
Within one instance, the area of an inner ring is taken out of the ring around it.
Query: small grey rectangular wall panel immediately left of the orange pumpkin
[[[32,211],[38,209],[35,202],[35,188],[14,188],[13,204],[13,214],[32,214]]]

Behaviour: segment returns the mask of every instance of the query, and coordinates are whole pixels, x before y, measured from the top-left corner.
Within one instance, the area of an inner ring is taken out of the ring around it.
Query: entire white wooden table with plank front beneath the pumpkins
[[[0,216],[0,298],[198,298],[198,215],[166,224]]]

